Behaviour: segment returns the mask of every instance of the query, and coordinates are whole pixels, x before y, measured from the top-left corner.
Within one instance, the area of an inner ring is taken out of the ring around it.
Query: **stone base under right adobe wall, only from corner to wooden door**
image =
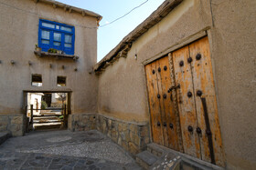
[[[136,155],[149,143],[149,126],[115,120],[97,115],[97,130],[108,135],[132,155]]]

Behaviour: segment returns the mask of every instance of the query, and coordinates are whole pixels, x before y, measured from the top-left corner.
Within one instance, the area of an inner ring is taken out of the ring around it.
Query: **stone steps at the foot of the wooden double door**
[[[144,169],[150,170],[223,170],[218,165],[212,165],[154,143],[147,145],[145,151],[136,155],[136,162]]]

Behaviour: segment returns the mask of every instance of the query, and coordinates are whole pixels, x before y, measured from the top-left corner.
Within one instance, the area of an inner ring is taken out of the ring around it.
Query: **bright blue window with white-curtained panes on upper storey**
[[[74,55],[75,27],[45,19],[39,19],[38,46],[47,52],[49,48]]]

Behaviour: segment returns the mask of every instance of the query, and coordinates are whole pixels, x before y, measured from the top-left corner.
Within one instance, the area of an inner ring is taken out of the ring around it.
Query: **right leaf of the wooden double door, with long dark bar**
[[[223,166],[222,142],[208,37],[172,54],[184,152]]]

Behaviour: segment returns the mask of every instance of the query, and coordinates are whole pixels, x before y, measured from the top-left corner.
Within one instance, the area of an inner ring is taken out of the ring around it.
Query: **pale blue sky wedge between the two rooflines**
[[[103,16],[100,25],[112,22],[125,15],[134,7],[143,4],[146,0],[58,0],[67,5],[77,6]],[[107,55],[120,43],[125,35],[141,24],[165,0],[148,0],[141,7],[133,10],[129,15],[98,29],[98,61]]]

